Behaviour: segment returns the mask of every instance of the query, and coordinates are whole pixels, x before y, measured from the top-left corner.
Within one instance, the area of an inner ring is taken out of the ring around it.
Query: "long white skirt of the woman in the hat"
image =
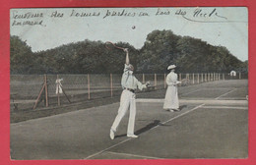
[[[177,108],[179,108],[178,88],[177,86],[168,86],[165,93],[163,109],[177,109]]]

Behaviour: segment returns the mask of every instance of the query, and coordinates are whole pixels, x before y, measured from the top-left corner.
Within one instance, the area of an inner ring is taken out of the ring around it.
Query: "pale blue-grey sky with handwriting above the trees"
[[[12,9],[10,27],[11,35],[26,40],[33,52],[85,39],[129,42],[140,49],[150,32],[170,29],[248,60],[245,7]]]

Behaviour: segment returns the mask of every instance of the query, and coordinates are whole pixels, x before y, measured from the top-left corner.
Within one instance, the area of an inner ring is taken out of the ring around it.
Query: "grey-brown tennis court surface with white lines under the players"
[[[140,93],[135,134],[128,115],[116,137],[109,129],[119,103],[11,124],[12,159],[246,158],[248,81],[179,88],[179,112],[162,109],[164,90]]]

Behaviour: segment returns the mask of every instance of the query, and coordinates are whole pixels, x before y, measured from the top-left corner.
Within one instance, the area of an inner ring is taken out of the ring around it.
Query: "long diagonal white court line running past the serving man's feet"
[[[184,113],[182,113],[182,114],[179,114],[179,115],[175,116],[174,118],[170,118],[169,120],[167,120],[167,121],[165,121],[165,122],[163,122],[163,123],[161,123],[161,124],[168,123],[168,122],[170,122],[170,121],[172,121],[172,120],[174,120],[174,119],[177,119],[178,117],[181,117],[181,116],[183,116],[183,115],[185,115],[185,114],[188,114],[189,112],[192,112],[192,111],[194,111],[194,110],[196,110],[196,109],[198,109],[198,108],[201,108],[201,107],[204,106],[204,105],[205,105],[205,104],[198,105],[198,106],[196,106],[195,108],[190,109],[190,110],[188,110],[188,111],[186,111],[186,112],[184,112]],[[158,125],[158,126],[155,126],[155,127],[153,127],[153,128],[151,128],[150,130],[154,130],[154,129],[158,128],[158,127],[159,127],[159,125]],[[149,131],[150,131],[150,130],[149,130]],[[113,147],[115,147],[115,146],[117,146],[117,145],[119,145],[119,144],[122,144],[122,143],[124,143],[124,142],[126,142],[126,141],[129,141],[129,140],[131,140],[131,139],[134,139],[134,138],[127,138],[127,139],[124,139],[124,140],[122,140],[122,141],[120,141],[120,142],[118,142],[118,143],[116,143],[116,144],[114,144],[114,145],[112,145],[112,146],[109,146],[109,147],[107,147],[107,148],[105,148],[105,149],[103,149],[103,150],[100,150],[100,151],[98,151],[98,152],[92,154],[92,155],[89,155],[89,156],[86,157],[85,159],[89,159],[89,158],[95,157],[96,155],[98,155],[98,154],[100,154],[100,153],[102,153],[102,152],[104,152],[104,151],[106,151],[106,150],[108,150],[108,149],[111,149],[111,148],[113,148]]]

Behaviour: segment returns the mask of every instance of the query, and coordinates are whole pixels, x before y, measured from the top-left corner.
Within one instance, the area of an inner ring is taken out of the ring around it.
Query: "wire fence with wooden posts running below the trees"
[[[220,73],[177,74],[181,85],[248,79],[247,74],[235,76]],[[142,83],[151,82],[147,90],[166,88],[167,74],[135,74]],[[122,74],[98,75],[11,75],[11,111],[31,110],[47,106],[83,102],[119,96]],[[61,90],[57,86],[61,80]]]

